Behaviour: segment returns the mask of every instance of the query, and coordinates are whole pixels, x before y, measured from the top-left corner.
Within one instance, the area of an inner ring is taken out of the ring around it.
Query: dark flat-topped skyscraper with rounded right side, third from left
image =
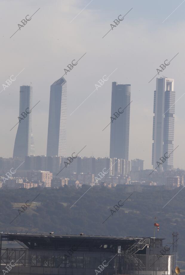
[[[111,117],[130,103],[130,84],[112,82]],[[110,124],[110,158],[129,158],[130,105]]]

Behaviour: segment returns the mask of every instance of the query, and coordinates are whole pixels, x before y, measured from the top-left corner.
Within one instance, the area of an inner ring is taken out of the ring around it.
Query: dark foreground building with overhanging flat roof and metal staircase
[[[15,241],[23,247],[12,248]],[[0,274],[12,267],[14,275],[170,275],[172,255],[162,242],[150,237],[1,233]]]

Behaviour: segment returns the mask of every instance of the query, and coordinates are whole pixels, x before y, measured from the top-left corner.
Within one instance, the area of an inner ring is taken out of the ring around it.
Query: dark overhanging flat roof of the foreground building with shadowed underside
[[[141,239],[151,237],[118,237],[102,235],[62,235],[62,234],[29,234],[29,233],[1,233],[1,241],[16,241],[24,244],[30,250],[67,250],[78,247],[80,251],[114,252],[121,246],[121,250],[129,249]],[[155,238],[155,242],[162,245],[162,238]]]

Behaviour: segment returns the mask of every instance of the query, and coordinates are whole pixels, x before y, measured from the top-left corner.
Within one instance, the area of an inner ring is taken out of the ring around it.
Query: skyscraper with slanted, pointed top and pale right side
[[[66,156],[67,147],[67,82],[62,77],[50,88],[47,133],[47,156]]]

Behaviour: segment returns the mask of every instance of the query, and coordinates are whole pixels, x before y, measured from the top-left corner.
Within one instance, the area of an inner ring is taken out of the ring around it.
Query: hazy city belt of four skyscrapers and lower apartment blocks
[[[129,161],[131,85],[112,82],[110,157],[67,157],[67,82],[62,77],[50,88],[46,156],[35,156],[32,131],[32,86],[20,86],[19,121],[13,158],[0,157],[0,188],[59,188],[74,185],[184,185],[184,170],[173,168],[174,80],[157,78],[154,91],[152,164]],[[163,157],[168,154],[168,157]],[[162,161],[162,162],[161,162]],[[156,163],[157,168],[156,168]],[[159,163],[161,165],[159,165]],[[14,169],[14,172],[12,172]],[[104,171],[106,170],[106,171]],[[151,173],[150,173],[151,172]]]

